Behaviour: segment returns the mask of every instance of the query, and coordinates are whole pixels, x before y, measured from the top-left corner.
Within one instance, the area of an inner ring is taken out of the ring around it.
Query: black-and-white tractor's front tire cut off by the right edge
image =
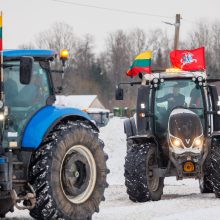
[[[214,140],[212,143],[211,154],[211,184],[217,198],[220,198],[220,141]]]

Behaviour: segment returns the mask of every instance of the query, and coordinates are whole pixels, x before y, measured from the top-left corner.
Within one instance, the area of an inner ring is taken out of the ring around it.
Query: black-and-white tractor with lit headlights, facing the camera
[[[199,179],[220,197],[220,116],[216,86],[204,72],[145,74],[136,114],[124,121],[125,185],[134,202],[161,199],[164,178]],[[123,89],[116,90],[123,99]]]

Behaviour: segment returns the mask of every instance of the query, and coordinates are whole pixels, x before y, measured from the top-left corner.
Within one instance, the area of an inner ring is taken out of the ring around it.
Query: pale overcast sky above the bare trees
[[[139,27],[148,31],[155,27],[166,29],[173,34],[174,27],[162,21],[174,22],[175,14],[182,16],[181,37],[193,28],[199,19],[220,20],[219,0],[63,0],[105,8],[154,14],[165,17],[135,15],[97,8],[82,7],[53,0],[0,0],[4,13],[4,48],[17,48],[29,43],[34,36],[49,28],[56,21],[64,21],[80,36],[90,33],[95,37],[99,50],[104,47],[107,33]]]

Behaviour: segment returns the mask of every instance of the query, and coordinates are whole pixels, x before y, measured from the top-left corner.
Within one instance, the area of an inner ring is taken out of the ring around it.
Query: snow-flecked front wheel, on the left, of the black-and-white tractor
[[[152,143],[134,144],[125,157],[125,185],[133,202],[158,201],[161,199],[164,178],[154,176],[157,166],[156,147]]]

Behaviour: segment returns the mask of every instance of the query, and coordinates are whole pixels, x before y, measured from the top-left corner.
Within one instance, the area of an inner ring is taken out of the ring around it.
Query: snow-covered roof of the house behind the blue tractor
[[[55,105],[88,109],[96,98],[97,95],[57,95]]]

